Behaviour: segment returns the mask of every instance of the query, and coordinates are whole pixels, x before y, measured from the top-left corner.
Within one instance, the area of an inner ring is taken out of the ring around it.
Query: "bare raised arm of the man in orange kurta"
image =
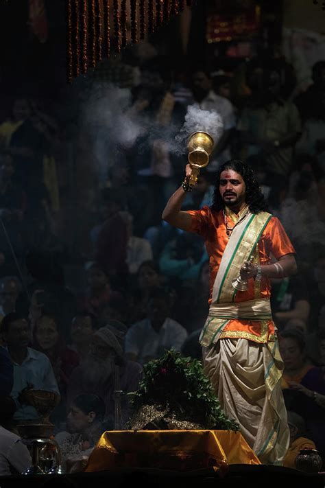
[[[191,176],[191,166],[186,165],[186,176]],[[167,205],[163,211],[162,218],[169,224],[182,229],[183,231],[189,231],[191,229],[191,216],[189,213],[181,210],[182,203],[186,196],[186,191],[183,187],[179,187],[171,198],[169,198]]]

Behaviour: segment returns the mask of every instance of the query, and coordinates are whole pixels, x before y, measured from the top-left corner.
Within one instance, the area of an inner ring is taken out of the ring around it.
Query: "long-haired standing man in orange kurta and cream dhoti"
[[[281,464],[289,429],[269,279],[296,272],[294,249],[278,219],[265,211],[248,165],[237,160],[222,165],[213,205],[185,212],[180,209],[191,189],[189,176],[187,165],[163,218],[202,235],[209,255],[210,310],[200,335],[204,371],[261,461]],[[238,279],[241,285],[247,282],[247,290],[236,290]]]

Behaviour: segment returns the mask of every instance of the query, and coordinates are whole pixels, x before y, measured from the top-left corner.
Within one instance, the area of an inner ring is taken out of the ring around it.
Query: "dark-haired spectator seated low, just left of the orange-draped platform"
[[[97,395],[73,398],[67,415],[67,432],[58,432],[64,472],[83,471],[104,427],[105,404]]]

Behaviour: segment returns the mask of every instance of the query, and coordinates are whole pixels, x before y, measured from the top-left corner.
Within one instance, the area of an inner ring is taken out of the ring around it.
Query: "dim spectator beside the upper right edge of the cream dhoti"
[[[301,383],[305,375],[313,369],[306,358],[306,342],[298,329],[287,329],[280,334],[280,355],[285,365],[282,388]]]

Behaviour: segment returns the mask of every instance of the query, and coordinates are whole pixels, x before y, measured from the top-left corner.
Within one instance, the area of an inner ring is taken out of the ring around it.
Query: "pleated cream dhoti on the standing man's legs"
[[[220,339],[203,347],[203,363],[221,407],[239,423],[260,461],[282,464],[289,447],[289,428],[277,342]]]

